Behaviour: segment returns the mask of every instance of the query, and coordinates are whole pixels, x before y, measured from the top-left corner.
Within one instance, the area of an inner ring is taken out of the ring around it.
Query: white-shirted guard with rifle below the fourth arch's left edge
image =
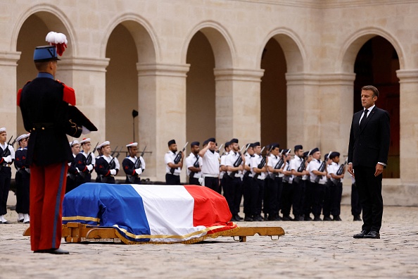
[[[267,172],[266,159],[261,154],[260,142],[253,143],[254,157],[251,158],[251,173],[253,173],[253,187],[255,192],[255,213],[253,221],[262,221],[261,210],[264,199],[265,177]]]

